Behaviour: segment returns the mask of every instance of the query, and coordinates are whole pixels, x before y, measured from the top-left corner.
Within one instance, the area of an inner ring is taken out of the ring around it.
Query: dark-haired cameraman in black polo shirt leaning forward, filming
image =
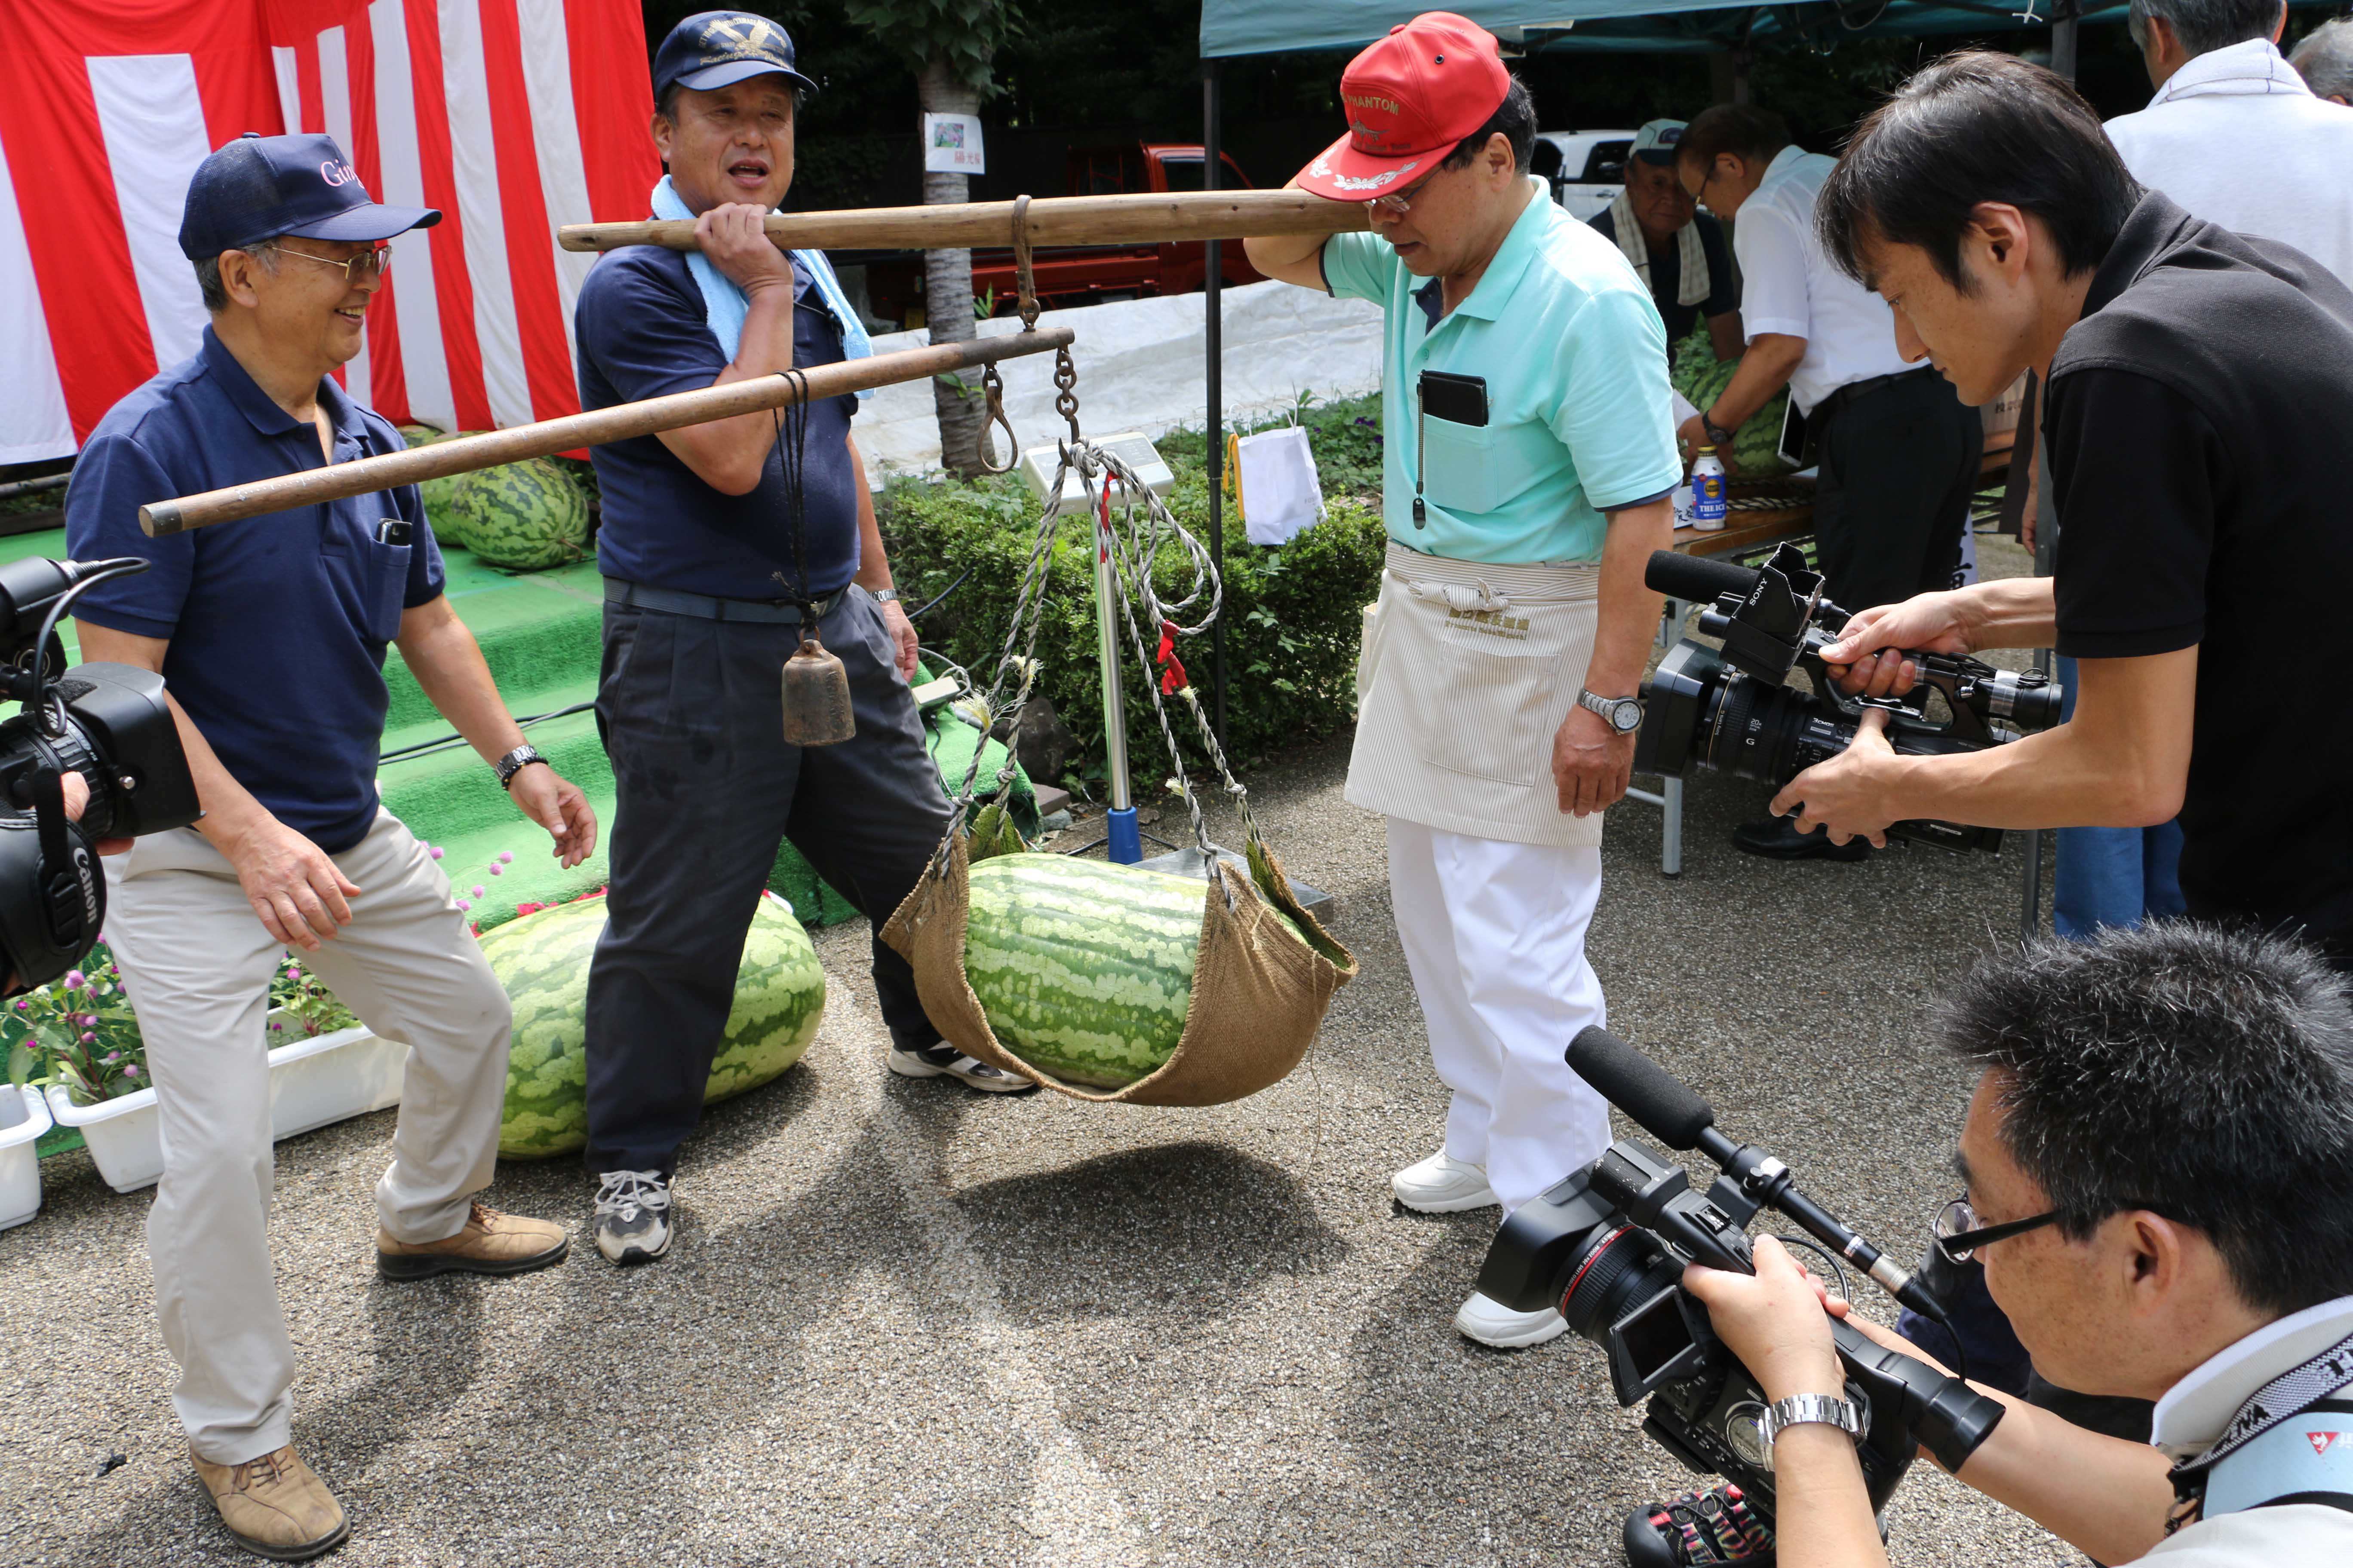
[[[2066,82],[2000,54],[1913,75],[1819,221],[1962,402],[2042,376],[2061,520],[2049,578],[1857,614],[1842,684],[1908,689],[1901,649],[2057,646],[2080,689],[2073,722],[1953,757],[1897,757],[1866,719],[1774,811],[1833,844],[2179,811],[2193,917],[2299,929],[2353,966],[2353,724],[2329,675],[2353,621],[2353,292],[2137,186]]]

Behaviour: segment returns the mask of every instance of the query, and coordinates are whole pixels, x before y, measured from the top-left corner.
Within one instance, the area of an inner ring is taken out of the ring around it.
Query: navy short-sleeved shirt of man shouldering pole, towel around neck
[[[727,369],[685,252],[656,244],[607,252],[581,287],[572,324],[584,409],[706,388]],[[840,327],[795,259],[793,364],[814,369],[840,357]],[[859,571],[859,494],[847,444],[854,411],[856,397],[809,407],[802,496],[812,595],[828,595]],[[720,599],[784,597],[772,574],[795,576],[793,524],[774,444],[748,496],[711,489],[656,435],[609,442],[591,456],[605,508],[598,527],[605,576]]]

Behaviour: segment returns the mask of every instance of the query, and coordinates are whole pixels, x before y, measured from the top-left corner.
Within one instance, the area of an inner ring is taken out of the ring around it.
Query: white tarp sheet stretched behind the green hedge
[[[1078,341],[1078,421],[1087,435],[1144,430],[1165,435],[1207,418],[1207,327],[1200,294],[1129,299],[1078,310],[1047,310],[1040,327],[1071,327]],[[1021,331],[1019,317],[981,322],[981,336]],[[1360,397],[1381,390],[1381,310],[1365,301],[1329,299],[1287,282],[1254,282],[1224,292],[1226,421],[1242,423],[1287,409],[1301,395]],[[925,348],[929,334],[894,331],[875,353]],[[1054,355],[1002,362],[1005,416],[1024,447],[1066,435],[1054,414]],[[979,397],[981,374],[967,371]],[[939,416],[932,383],[887,386],[859,407],[852,428],[868,477],[939,468]],[[1000,435],[1002,440],[1002,435]],[[1002,458],[1002,449],[998,449]]]

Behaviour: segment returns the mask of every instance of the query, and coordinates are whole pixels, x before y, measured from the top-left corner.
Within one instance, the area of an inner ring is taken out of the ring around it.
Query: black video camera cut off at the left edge
[[[162,677],[108,663],[68,670],[56,635],[82,592],[146,567],[136,555],[0,567],[0,698],[24,703],[0,722],[0,976],[24,987],[47,985],[99,940],[99,839],[202,816]],[[89,785],[78,823],[66,820],[66,773]]]

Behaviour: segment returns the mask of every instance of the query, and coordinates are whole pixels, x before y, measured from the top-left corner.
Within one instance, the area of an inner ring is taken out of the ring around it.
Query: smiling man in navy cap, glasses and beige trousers
[[[480,1201],[499,1154],[513,1013],[449,879],[376,799],[384,646],[576,865],[581,792],[525,743],[442,597],[416,487],[148,538],[139,508],[400,451],[332,371],[360,350],[384,242],[438,223],[369,200],[327,136],[245,136],[188,186],[179,242],[212,313],[198,355],[118,402],[75,465],[66,538],[148,571],[75,607],[82,658],[160,670],[205,818],[108,860],[106,940],[162,1114],[148,1211],[155,1314],[195,1469],[249,1552],[344,1540],[289,1439],[294,1345],[271,1267],[268,992],[289,947],[379,1037],[409,1048],[376,1272],[520,1274],[560,1225]],[[536,764],[536,766],[534,766]]]

